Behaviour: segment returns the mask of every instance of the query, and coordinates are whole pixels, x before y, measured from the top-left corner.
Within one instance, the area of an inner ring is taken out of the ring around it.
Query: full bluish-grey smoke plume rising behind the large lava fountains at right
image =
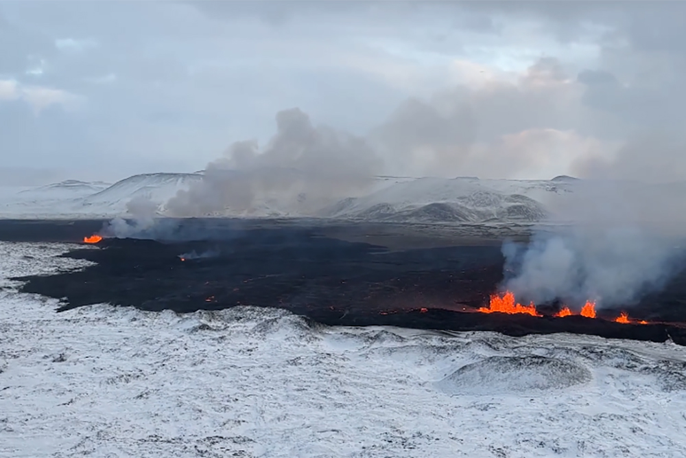
[[[652,190],[652,191],[646,191]],[[508,242],[503,288],[537,304],[628,306],[676,273],[683,203],[669,187],[584,181],[553,211],[564,229],[537,228],[528,244]]]

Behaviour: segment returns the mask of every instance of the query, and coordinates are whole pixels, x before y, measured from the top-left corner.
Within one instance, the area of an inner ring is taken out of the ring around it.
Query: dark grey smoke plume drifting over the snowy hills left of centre
[[[314,126],[299,108],[276,114],[276,135],[264,148],[238,141],[206,166],[204,176],[167,202],[172,216],[250,215],[279,203],[307,215],[372,183],[383,162],[362,138]]]

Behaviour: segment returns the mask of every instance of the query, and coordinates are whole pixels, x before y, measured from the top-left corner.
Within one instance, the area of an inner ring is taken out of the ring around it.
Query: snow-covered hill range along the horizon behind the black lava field
[[[283,172],[283,173],[281,173]],[[626,218],[650,220],[685,214],[686,183],[646,185],[606,182],[557,176],[551,180],[477,179],[475,177],[410,178],[377,176],[357,191],[355,197],[332,199],[322,188],[325,179],[308,187],[307,179],[293,170],[250,172],[255,183],[241,172],[226,172],[225,179],[237,180],[220,191],[244,198],[251,194],[249,207],[222,206],[221,195],[211,190],[191,194],[185,208],[193,214],[174,216],[213,217],[319,217],[391,222],[517,222],[532,223],[563,214],[586,214],[602,218],[608,212]],[[216,178],[216,173],[215,173]],[[222,179],[224,179],[222,178]],[[278,179],[278,180],[277,180]],[[127,204],[145,198],[157,206],[158,216],[170,216],[169,199],[180,190],[202,187],[203,172],[156,173],[130,176],[113,185],[67,181],[0,196],[2,218],[114,218],[131,216]],[[338,183],[340,184],[340,183]],[[323,191],[323,193],[322,193]],[[198,197],[200,196],[200,197]],[[213,199],[212,205],[193,198]],[[217,206],[216,200],[220,200]],[[154,207],[153,205],[153,207]],[[211,210],[202,212],[208,207]],[[200,209],[200,213],[195,212]],[[621,215],[620,215],[621,216]],[[564,216],[563,216],[564,219]]]

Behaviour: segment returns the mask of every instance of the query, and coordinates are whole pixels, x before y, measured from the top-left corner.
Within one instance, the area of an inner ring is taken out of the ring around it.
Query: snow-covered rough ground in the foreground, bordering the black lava
[[[1,243],[1,457],[684,457],[686,348],[326,328],[281,310],[57,314]]]

